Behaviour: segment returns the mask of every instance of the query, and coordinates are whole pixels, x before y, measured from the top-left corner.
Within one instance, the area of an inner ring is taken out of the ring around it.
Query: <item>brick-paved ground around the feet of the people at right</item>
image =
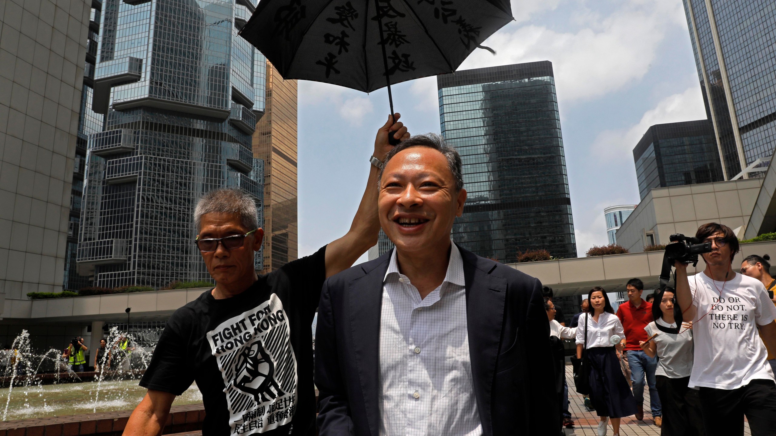
[[[584,407],[582,396],[574,390],[574,379],[571,372],[571,365],[566,365],[566,382],[569,384],[569,411],[574,420],[573,428],[566,428],[566,436],[598,436],[598,415],[595,410],[588,411]],[[644,389],[644,420],[636,420],[636,417],[622,418],[620,425],[620,436],[660,436],[660,428],[655,427],[655,423],[650,415],[650,389]],[[607,431],[607,436],[612,435],[611,423]],[[743,434],[750,435],[749,424],[744,424]]]

